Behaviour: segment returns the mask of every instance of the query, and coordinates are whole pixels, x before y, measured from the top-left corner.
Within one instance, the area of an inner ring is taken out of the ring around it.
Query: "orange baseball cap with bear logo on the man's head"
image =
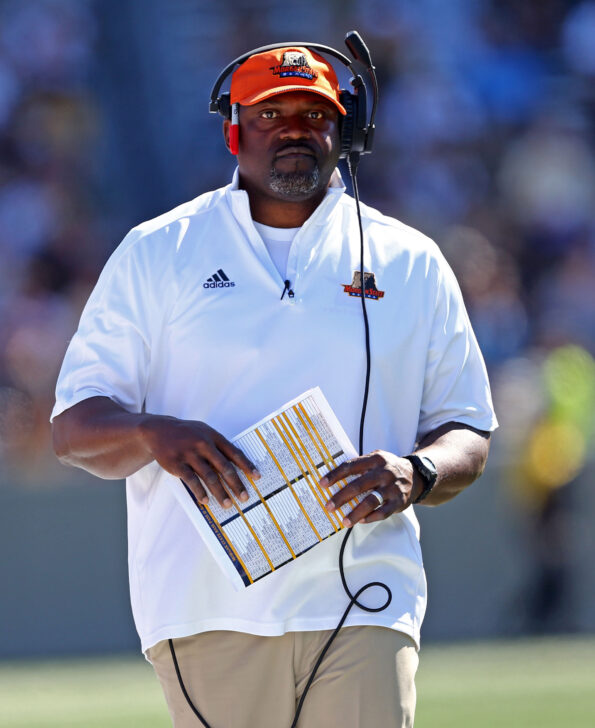
[[[250,56],[231,77],[230,101],[252,106],[288,91],[312,91],[332,101],[342,114],[347,113],[339,101],[334,68],[318,53],[302,47],[276,48]]]

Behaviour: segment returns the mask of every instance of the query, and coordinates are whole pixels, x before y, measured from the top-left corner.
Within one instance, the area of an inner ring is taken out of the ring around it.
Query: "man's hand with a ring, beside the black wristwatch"
[[[328,488],[353,475],[359,477],[337,491],[326,504],[326,509],[332,512],[356,496],[367,493],[362,502],[343,519],[343,525],[347,527],[358,522],[383,521],[393,513],[405,510],[415,497],[413,494],[413,466],[409,460],[384,450],[375,450],[369,455],[362,455],[341,463],[321,479],[320,485]],[[383,498],[382,504],[371,491],[380,494]]]

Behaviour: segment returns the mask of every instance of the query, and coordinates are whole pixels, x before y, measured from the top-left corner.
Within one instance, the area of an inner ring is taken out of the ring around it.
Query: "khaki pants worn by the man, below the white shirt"
[[[289,728],[330,634],[204,632],[174,640],[174,649],[190,699],[211,728]],[[167,640],[147,655],[175,728],[200,728]],[[411,728],[417,664],[410,637],[384,627],[345,627],[318,669],[299,728]]]

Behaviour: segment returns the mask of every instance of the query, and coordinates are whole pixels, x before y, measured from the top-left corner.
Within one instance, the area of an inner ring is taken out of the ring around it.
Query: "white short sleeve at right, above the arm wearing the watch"
[[[435,262],[436,300],[418,438],[446,422],[494,430],[498,422],[488,375],[459,285],[441,253]]]

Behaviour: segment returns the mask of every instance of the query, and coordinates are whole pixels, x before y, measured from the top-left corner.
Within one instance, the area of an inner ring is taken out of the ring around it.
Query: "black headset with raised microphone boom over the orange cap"
[[[372,151],[372,142],[374,140],[374,117],[376,116],[376,105],[378,103],[378,83],[376,80],[374,66],[372,65],[372,59],[370,57],[370,51],[367,49],[366,44],[359,33],[355,30],[347,33],[345,36],[345,44],[353,56],[353,61],[350,61],[347,56],[336,51],[334,48],[320,45],[319,43],[273,43],[272,45],[261,46],[260,48],[255,48],[248,53],[244,53],[226,66],[226,68],[224,68],[220,73],[219,78],[215,81],[215,85],[211,91],[209,112],[212,114],[221,114],[221,116],[225,119],[231,118],[231,102],[229,93],[220,94],[219,91],[223,82],[231,73],[233,73],[235,67],[241,65],[244,61],[247,61],[250,56],[254,56],[257,53],[264,53],[266,51],[273,51],[277,48],[288,47],[305,47],[311,51],[326,53],[327,55],[333,56],[341,61],[341,63],[344,66],[347,66],[353,74],[350,79],[350,83],[353,86],[354,91],[351,92],[342,89],[339,94],[339,101],[347,112],[345,116],[341,114],[340,119],[341,157],[347,157],[352,163],[357,163],[361,154],[369,154]],[[355,68],[356,63],[365,68],[372,82],[373,103],[369,121],[367,117],[366,86],[361,73],[359,73]]]

